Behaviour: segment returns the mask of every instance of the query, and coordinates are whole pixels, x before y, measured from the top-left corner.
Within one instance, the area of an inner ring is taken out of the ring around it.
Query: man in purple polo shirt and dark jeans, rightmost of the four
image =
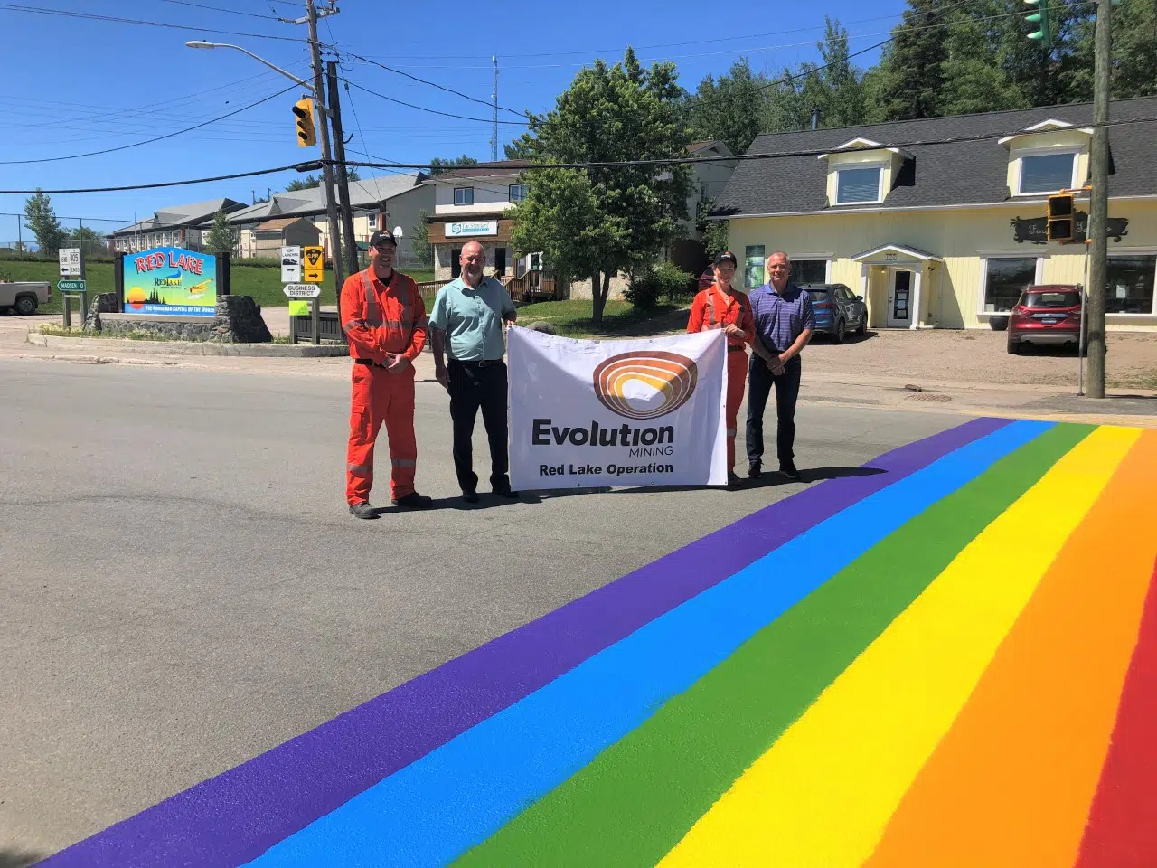
[[[775,387],[775,447],[780,472],[788,479],[799,479],[795,466],[795,404],[799,396],[804,348],[816,328],[811,296],[788,282],[791,262],[787,253],[767,257],[767,282],[753,290],[747,300],[756,319],[754,353],[749,368],[747,389],[747,476],[759,479],[764,466],[764,407]]]

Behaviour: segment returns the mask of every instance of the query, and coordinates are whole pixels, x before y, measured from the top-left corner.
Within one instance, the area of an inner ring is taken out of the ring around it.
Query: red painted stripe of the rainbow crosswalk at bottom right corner
[[[1151,532],[1151,529],[1150,529]],[[1157,866],[1157,565],[1076,868]]]

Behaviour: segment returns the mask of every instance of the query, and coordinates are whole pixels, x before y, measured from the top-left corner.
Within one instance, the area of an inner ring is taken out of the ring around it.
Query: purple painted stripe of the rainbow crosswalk
[[[42,866],[237,866],[787,540],[1008,425],[973,419],[740,518]]]

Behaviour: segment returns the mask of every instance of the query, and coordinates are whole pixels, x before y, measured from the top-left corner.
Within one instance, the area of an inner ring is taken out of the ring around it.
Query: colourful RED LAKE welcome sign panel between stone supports
[[[125,257],[124,312],[214,316],[216,257],[182,248]]]

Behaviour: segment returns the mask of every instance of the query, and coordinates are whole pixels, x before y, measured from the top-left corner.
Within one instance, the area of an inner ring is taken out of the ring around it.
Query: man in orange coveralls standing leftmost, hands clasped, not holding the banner
[[[359,518],[376,518],[369,505],[374,484],[374,441],[385,422],[390,439],[391,502],[425,509],[430,498],[414,491],[418,441],[414,439],[413,361],[426,345],[426,304],[418,286],[393,270],[397,242],[381,229],[369,240],[369,267],[341,287],[341,328],[353,356],[346,500]]]

